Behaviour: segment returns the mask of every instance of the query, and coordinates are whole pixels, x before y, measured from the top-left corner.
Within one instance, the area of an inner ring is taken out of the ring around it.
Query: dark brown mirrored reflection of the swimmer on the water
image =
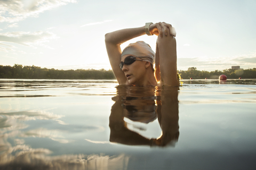
[[[118,86],[118,95],[113,97],[115,104],[109,116],[110,142],[149,146],[166,146],[177,142],[179,138],[178,88],[168,87],[167,90],[166,88],[162,89],[161,96],[156,97],[154,96],[155,87],[151,87],[154,90],[145,89],[148,95],[141,96],[145,92],[141,89],[136,91],[134,87]],[[142,123],[153,122],[158,117],[162,128],[161,137],[148,139],[129,130],[124,117]]]

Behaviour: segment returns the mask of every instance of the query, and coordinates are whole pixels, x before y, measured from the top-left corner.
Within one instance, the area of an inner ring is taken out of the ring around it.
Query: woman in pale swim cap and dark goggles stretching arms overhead
[[[146,33],[158,36],[156,54],[143,41],[130,44],[121,51],[122,43]],[[107,53],[118,83],[143,87],[179,86],[175,34],[172,25],[165,22],[146,23],[143,27],[107,33]]]

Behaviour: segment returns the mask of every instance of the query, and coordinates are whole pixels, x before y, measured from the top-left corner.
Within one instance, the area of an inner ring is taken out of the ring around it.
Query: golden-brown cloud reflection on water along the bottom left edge
[[[28,145],[5,145],[0,155],[1,169],[127,169],[129,156],[59,155],[49,156],[49,149]]]

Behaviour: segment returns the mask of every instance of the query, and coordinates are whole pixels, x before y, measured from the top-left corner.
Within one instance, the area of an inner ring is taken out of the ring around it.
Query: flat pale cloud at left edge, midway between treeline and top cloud
[[[30,46],[30,47],[34,47],[35,45],[38,45],[38,46],[44,46],[46,48],[51,48],[46,46],[44,43],[49,42],[49,40],[51,39],[57,39],[57,38],[58,38],[57,36],[55,36],[53,33],[48,31],[36,31],[36,32],[17,31],[17,32],[0,33],[0,42],[14,43],[14,44]],[[0,43],[0,45],[2,45],[2,50],[5,52],[7,51],[7,48],[3,47],[3,45],[14,47],[4,43]]]

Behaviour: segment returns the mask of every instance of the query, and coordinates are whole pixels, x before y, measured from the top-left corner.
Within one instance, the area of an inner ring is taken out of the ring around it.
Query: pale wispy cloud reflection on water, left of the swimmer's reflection
[[[67,133],[74,134],[78,132],[85,132],[87,130],[104,130],[104,128],[101,126],[77,126],[76,124],[68,125],[63,121],[58,120],[61,117],[63,117],[63,115],[55,115],[45,110],[1,113],[0,129],[2,129],[2,133],[4,135],[0,134],[0,139],[3,137],[7,139],[10,137],[18,136],[19,138],[49,138],[59,143],[70,143],[74,142],[74,140],[66,139],[65,135]],[[53,120],[58,124],[55,124],[55,129],[37,128],[27,131],[20,131],[22,129],[28,128],[28,125],[24,122],[30,120]],[[16,143],[22,143],[22,140],[17,140]]]

